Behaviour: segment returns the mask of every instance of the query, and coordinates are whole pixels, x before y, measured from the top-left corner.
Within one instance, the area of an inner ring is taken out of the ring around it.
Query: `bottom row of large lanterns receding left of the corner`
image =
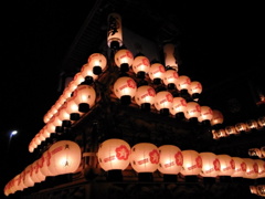
[[[25,188],[42,182],[49,176],[72,174],[81,163],[81,148],[71,140],[60,140],[53,144],[42,157],[24,168],[4,186],[4,195],[9,196]]]

